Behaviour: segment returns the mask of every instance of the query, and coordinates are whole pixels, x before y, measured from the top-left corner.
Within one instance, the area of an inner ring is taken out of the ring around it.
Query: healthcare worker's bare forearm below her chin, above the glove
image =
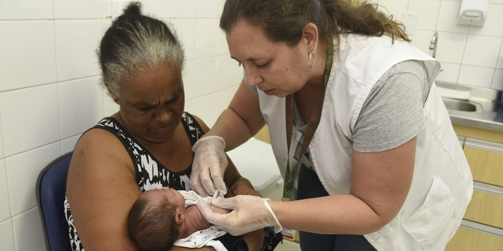
[[[259,96],[251,92],[241,81],[229,107],[218,117],[206,134],[225,140],[225,151],[230,151],[256,135],[266,122],[260,111]]]

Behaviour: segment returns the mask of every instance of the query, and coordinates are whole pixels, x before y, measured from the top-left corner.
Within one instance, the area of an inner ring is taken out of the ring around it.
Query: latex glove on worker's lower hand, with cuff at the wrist
[[[233,209],[232,212],[227,214],[212,212],[203,200],[198,201],[197,207],[208,222],[234,236],[267,226],[274,226],[274,230],[280,232],[283,227],[269,206],[268,200],[270,199],[251,195],[238,195],[232,198],[215,198],[209,201],[213,206]]]

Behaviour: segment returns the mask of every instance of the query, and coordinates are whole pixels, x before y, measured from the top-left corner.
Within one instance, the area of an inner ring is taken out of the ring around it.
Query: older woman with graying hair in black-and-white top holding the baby
[[[184,112],[179,41],[163,22],[141,15],[138,3],[113,22],[98,54],[103,83],[120,110],[75,146],[65,200],[70,239],[73,250],[137,250],[126,223],[132,204],[154,188],[190,190],[191,148],[209,129]],[[224,158],[230,194],[257,195]],[[243,238],[250,250],[258,250],[263,230]]]

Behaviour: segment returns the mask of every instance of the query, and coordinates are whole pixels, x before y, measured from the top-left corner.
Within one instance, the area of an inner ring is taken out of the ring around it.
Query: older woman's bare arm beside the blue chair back
[[[86,250],[138,250],[127,232],[127,215],[141,190],[131,157],[114,135],[93,129],[82,136],[71,158],[66,194]]]

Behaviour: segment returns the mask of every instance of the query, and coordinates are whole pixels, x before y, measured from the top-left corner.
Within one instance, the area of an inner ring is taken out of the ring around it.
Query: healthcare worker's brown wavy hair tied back
[[[317,26],[321,38],[345,33],[387,35],[410,42],[403,24],[393,21],[367,1],[351,0],[227,0],[220,28],[228,33],[244,19],[264,28],[275,42],[296,45],[307,23]]]

